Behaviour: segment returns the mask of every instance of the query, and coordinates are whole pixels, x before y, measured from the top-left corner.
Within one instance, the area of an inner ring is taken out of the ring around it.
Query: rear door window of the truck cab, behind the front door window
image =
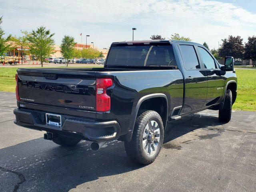
[[[186,69],[200,69],[196,50],[192,45],[180,45],[182,60]]]

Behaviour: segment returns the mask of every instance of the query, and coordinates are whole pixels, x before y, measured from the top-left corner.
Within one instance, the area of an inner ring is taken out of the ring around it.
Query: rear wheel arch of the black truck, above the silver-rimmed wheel
[[[131,122],[131,125],[130,125],[130,128],[128,130],[128,133],[126,134],[125,136],[125,140],[126,141],[130,141],[131,138],[132,138],[132,134],[133,134],[133,130],[134,130],[134,125],[135,125],[135,121],[136,121],[136,118],[137,118],[137,115],[138,115],[138,112],[139,110],[141,109],[141,107],[147,105],[147,102],[149,103],[150,100],[161,100],[163,103],[163,110],[159,113],[159,110],[156,110],[162,120],[163,120],[163,124],[164,124],[164,128],[166,127],[167,125],[167,122],[168,122],[168,99],[167,99],[167,96],[165,94],[162,94],[162,93],[154,93],[154,94],[149,94],[149,95],[146,95],[146,96],[143,96],[142,98],[140,98],[136,104],[136,107],[134,109],[134,112],[132,112],[132,122]],[[151,105],[152,106],[152,105]],[[158,106],[159,107],[159,106]],[[161,106],[160,106],[161,107]],[[149,109],[150,110],[150,109]],[[154,110],[154,108],[152,108],[151,110]]]

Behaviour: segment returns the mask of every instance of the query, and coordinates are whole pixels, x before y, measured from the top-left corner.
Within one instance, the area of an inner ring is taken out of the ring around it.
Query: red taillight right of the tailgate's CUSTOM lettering
[[[96,111],[106,112],[110,110],[110,96],[106,94],[108,87],[113,85],[112,79],[96,79]]]

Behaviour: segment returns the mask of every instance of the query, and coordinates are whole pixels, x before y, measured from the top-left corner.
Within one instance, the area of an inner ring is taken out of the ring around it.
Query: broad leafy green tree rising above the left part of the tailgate
[[[46,30],[44,26],[40,26],[37,30],[32,30],[28,36],[30,42],[30,52],[36,55],[41,60],[41,66],[43,66],[44,58],[54,53],[54,40],[50,30]]]

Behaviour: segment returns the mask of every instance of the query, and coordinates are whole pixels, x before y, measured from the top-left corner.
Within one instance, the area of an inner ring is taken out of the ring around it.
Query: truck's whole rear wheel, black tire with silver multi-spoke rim
[[[158,156],[164,139],[164,125],[153,110],[140,112],[136,118],[132,140],[124,142],[130,160],[148,165]]]

